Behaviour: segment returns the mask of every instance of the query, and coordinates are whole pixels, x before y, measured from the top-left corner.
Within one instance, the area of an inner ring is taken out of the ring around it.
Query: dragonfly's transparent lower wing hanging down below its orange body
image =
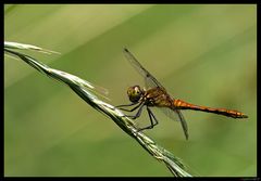
[[[162,113],[164,113],[172,120],[181,121],[184,134],[186,139],[188,139],[188,127],[182,112],[179,109],[170,109],[167,107],[159,107],[159,109],[162,111]]]

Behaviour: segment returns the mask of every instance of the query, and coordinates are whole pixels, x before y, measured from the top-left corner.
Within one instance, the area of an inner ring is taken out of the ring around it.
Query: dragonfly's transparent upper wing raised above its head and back
[[[137,59],[125,48],[124,54],[132,66],[145,78],[145,85],[147,88],[160,87],[165,88],[137,61]]]

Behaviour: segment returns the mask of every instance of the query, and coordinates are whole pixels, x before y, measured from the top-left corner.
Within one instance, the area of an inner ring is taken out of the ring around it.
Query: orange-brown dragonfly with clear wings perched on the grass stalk
[[[142,109],[146,107],[149,115],[150,125],[139,128],[138,131],[152,129],[159,124],[157,117],[151,111],[151,107],[159,107],[163,111],[163,113],[166,114],[166,116],[171,117],[171,119],[179,121],[186,140],[188,140],[188,127],[181,111],[191,109],[213,113],[232,118],[248,118],[246,114],[235,109],[212,108],[208,106],[190,104],[179,99],[174,99],[167,93],[166,89],[154,78],[154,76],[152,76],[126,48],[124,48],[123,52],[130,65],[145,78],[145,88],[141,89],[137,85],[129,87],[127,89],[127,95],[130,104],[119,105],[116,107],[125,112],[134,112],[138,109],[135,115],[125,115],[132,119],[140,117]],[[132,108],[129,109],[124,107]]]

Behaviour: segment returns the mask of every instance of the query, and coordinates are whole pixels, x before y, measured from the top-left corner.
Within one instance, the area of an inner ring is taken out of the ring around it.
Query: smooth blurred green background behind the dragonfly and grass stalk
[[[113,105],[142,83],[127,47],[174,98],[249,116],[184,111],[186,141],[179,122],[156,111],[160,124],[146,133],[197,176],[257,176],[257,5],[4,5],[4,40],[60,52],[23,51],[107,88]],[[4,174],[172,176],[66,86],[9,56]]]

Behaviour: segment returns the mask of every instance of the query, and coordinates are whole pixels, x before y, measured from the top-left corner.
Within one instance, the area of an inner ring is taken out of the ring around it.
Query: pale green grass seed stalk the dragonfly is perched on
[[[147,152],[149,152],[151,156],[160,161],[163,161],[174,176],[191,177],[191,174],[186,171],[186,167],[182,164],[182,161],[172,153],[158,145],[153,140],[151,140],[142,132],[137,132],[138,128],[132,119],[125,117],[124,114],[113,105],[99,100],[98,96],[94,94],[95,90],[91,83],[74,75],[50,68],[49,66],[40,63],[39,61],[36,61],[28,55],[10,50],[10,48],[13,47],[5,47],[4,43],[4,52],[9,53],[12,56],[17,56],[48,77],[67,85],[75,93],[85,100],[85,102],[87,102],[97,111],[110,117],[119,127],[122,128],[122,130],[134,138]],[[15,49],[20,48],[16,47]]]

